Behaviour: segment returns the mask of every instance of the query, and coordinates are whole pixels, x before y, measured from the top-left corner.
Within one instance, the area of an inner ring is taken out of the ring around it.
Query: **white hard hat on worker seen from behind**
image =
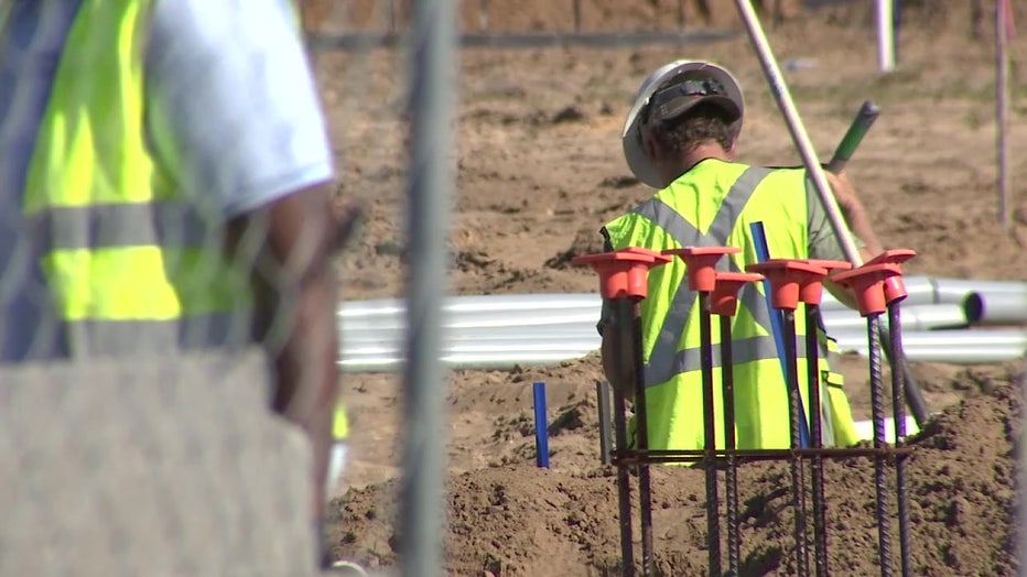
[[[624,145],[624,157],[631,173],[634,173],[639,181],[653,188],[661,188],[663,183],[660,181],[656,167],[649,162],[649,159],[642,150],[641,139],[639,137],[639,115],[649,106],[650,99],[652,99],[653,95],[658,91],[682,85],[688,80],[698,80],[700,83],[706,80],[713,81],[705,84],[705,89],[699,91],[671,95],[691,98],[677,98],[673,101],[666,102],[667,106],[670,106],[670,110],[666,111],[667,115],[670,116],[664,115],[664,118],[680,116],[696,104],[707,101],[720,105],[733,117],[736,117],[736,120],[733,122],[735,130],[742,129],[745,102],[742,99],[742,88],[731,73],[715,64],[701,61],[674,61],[660,66],[656,72],[650,74],[638,88],[638,92],[635,95],[635,104],[631,106],[631,110],[628,111],[628,117],[624,122],[624,132],[620,134]]]

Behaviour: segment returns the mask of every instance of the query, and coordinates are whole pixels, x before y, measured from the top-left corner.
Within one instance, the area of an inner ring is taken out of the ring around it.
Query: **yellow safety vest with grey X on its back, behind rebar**
[[[758,262],[749,225],[763,221],[772,258],[808,258],[804,175],[802,170],[770,170],[709,159],[631,213],[606,225],[605,230],[614,249],[740,247],[743,252],[725,257],[721,268],[744,271],[747,264]],[[641,304],[648,440],[652,449],[703,447],[699,297],[688,290],[685,269],[681,259],[653,269],[649,273],[648,297]],[[809,409],[804,400],[808,385],[803,315],[800,305],[796,312],[799,388],[803,405]],[[723,447],[716,323],[712,337],[716,440],[717,447]],[[732,319],[732,340],[738,447],[788,447],[788,393],[761,283],[750,283],[739,294],[738,313]],[[821,369],[826,378],[826,363]],[[844,393],[837,389],[829,391],[829,396],[825,442],[855,443]]]

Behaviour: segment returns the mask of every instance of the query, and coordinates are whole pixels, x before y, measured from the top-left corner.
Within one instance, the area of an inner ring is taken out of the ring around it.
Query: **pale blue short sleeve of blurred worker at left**
[[[183,193],[233,218],[332,178],[313,75],[289,0],[158,0],[148,130]]]

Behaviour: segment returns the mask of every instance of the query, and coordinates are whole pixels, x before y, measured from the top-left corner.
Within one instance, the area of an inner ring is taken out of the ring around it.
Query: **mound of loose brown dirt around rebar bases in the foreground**
[[[1016,573],[1012,520],[1021,378],[1006,373],[976,383],[977,393],[915,438],[916,451],[907,461],[915,575]],[[491,426],[493,444],[514,440],[507,457],[448,476],[448,575],[619,575],[616,480],[614,469],[594,465],[594,403],[579,400],[551,414],[561,415],[550,422],[556,434],[551,469],[534,466],[531,422],[515,413]],[[581,421],[587,426],[579,426]],[[561,422],[562,427],[556,425]],[[489,437],[488,431],[483,433]],[[574,436],[576,451],[566,450],[566,437]],[[488,443],[480,447],[483,453],[494,449]],[[659,575],[702,575],[703,473],[677,467],[658,467],[652,473]],[[875,574],[873,466],[867,459],[831,461],[825,475],[830,567],[840,575]],[[780,464],[740,469],[743,575],[788,575],[794,569],[789,479]],[[894,487],[894,475],[889,479]],[[401,540],[394,529],[396,491],[396,481],[389,481],[350,491],[333,503],[333,553],[371,566],[394,564]],[[894,501],[891,507],[894,511]],[[897,521],[893,525],[897,535]],[[897,542],[893,551],[897,554]]]

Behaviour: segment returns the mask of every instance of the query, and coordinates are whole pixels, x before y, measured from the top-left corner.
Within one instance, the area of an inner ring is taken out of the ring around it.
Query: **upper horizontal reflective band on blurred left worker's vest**
[[[47,250],[160,246],[220,247],[219,221],[179,203],[53,206],[32,215]]]

